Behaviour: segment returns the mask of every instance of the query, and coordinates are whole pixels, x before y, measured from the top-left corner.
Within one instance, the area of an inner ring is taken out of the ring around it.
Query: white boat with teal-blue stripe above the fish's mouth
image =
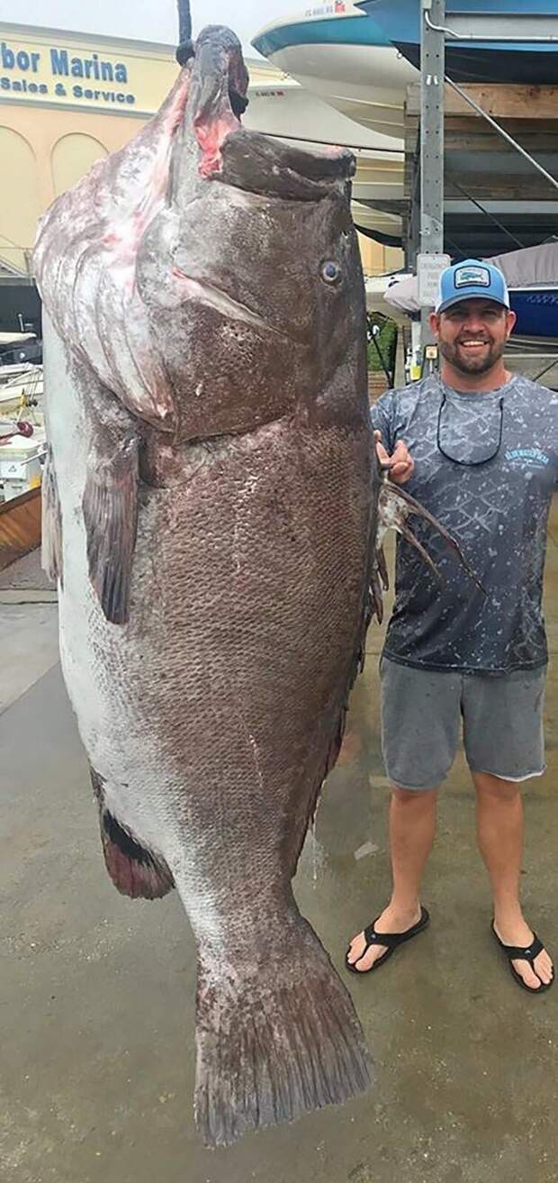
[[[405,90],[417,72],[351,0],[274,20],[252,44],[350,119],[391,138],[403,135]]]

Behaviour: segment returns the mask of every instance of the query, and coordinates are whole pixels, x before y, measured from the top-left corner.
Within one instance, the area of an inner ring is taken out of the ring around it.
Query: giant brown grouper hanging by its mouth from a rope
[[[111,879],[195,933],[210,1146],[370,1084],[291,886],[379,608],[355,163],[245,130],[247,85],[205,30],[35,250],[64,678]]]

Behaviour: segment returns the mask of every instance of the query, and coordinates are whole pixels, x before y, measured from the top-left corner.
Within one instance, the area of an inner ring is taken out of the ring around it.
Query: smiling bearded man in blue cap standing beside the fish
[[[541,592],[558,479],[558,396],[505,368],[515,317],[495,267],[473,259],[445,271],[430,323],[440,376],[388,392],[374,424],[391,455],[391,478],[410,481],[409,491],[449,529],[486,594],[427,528],[421,541],[441,583],[400,544],[381,664],[394,886],[388,907],[351,942],[346,965],[376,970],[428,924],[421,883],[462,718],[494,936],[515,981],[543,994],[554,974],[519,899],[520,784],[545,770]]]

